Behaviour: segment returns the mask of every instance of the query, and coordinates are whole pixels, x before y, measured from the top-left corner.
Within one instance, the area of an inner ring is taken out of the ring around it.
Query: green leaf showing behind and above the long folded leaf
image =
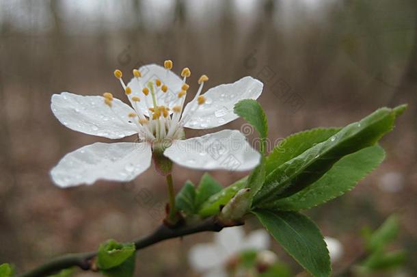
[[[282,163],[297,157],[308,148],[324,142],[338,131],[340,131],[340,128],[316,128],[289,135],[269,153],[266,165],[267,174],[281,166]]]

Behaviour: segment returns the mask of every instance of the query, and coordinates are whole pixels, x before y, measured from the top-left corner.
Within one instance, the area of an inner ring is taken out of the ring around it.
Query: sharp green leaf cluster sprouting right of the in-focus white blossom
[[[178,208],[189,218],[208,217],[221,215],[221,210],[234,200],[235,207],[256,215],[310,274],[329,276],[331,267],[323,235],[299,211],[345,194],[377,168],[385,157],[377,142],[393,129],[396,117],[405,108],[384,107],[343,128],[318,128],[290,135],[264,155],[249,176],[224,189],[209,174],[204,175],[198,188],[187,182],[176,198]],[[243,100],[234,112],[252,124],[265,142],[267,119],[256,101]],[[265,143],[260,151],[265,154]],[[238,194],[247,188],[250,201],[247,195],[243,198]],[[242,200],[236,199],[238,196]],[[248,204],[236,205],[239,201]]]

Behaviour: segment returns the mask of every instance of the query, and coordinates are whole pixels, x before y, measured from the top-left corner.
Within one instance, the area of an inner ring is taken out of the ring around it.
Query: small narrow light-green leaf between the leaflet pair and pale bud
[[[220,212],[220,208],[224,207],[239,190],[243,189],[247,182],[247,176],[240,179],[236,183],[225,187],[217,194],[213,194],[204,203],[202,203],[198,214],[202,217],[208,217],[211,215],[217,215]]]

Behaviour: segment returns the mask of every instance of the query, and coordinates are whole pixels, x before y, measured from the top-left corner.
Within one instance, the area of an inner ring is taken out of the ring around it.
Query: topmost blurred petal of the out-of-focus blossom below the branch
[[[237,254],[241,250],[245,231],[241,226],[228,227],[215,234],[215,243],[227,253],[227,256]]]

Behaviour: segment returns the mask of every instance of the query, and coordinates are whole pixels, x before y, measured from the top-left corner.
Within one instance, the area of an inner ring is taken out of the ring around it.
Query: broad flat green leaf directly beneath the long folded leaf
[[[342,157],[312,185],[292,196],[271,202],[265,207],[299,211],[321,205],[353,189],[358,181],[379,166],[384,157],[384,149],[378,145]]]

